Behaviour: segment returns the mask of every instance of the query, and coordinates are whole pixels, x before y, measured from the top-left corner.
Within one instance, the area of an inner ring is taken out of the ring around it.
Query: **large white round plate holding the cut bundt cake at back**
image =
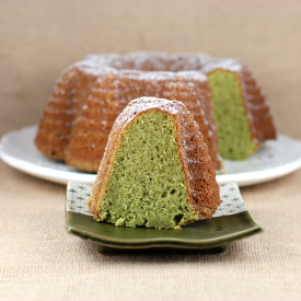
[[[93,184],[95,174],[79,172],[62,162],[44,157],[35,147],[37,126],[30,126],[5,134],[1,139],[1,159],[12,167],[31,175],[67,184],[78,181]],[[220,185],[236,182],[246,186],[267,182],[301,167],[301,141],[278,135],[276,141],[267,141],[244,161],[224,161],[224,174],[217,175]]]

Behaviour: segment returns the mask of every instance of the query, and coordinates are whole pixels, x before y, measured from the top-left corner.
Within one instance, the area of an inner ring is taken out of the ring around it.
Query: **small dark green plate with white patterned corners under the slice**
[[[223,200],[212,219],[197,221],[180,230],[125,228],[97,222],[89,213],[91,186],[69,182],[66,201],[66,229],[70,234],[97,244],[103,254],[153,251],[223,252],[227,245],[264,230],[243,204],[235,183],[220,186]]]

